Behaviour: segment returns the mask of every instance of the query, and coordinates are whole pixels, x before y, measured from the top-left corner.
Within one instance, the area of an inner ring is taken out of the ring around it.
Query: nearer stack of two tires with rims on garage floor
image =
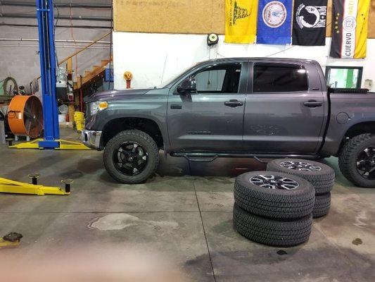
[[[253,171],[234,183],[234,228],[265,245],[291,247],[310,238],[315,191],[288,173]]]

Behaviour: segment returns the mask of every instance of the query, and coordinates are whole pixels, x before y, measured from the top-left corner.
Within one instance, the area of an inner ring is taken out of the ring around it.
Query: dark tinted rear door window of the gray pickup
[[[255,64],[253,92],[307,91],[305,68],[296,65]]]

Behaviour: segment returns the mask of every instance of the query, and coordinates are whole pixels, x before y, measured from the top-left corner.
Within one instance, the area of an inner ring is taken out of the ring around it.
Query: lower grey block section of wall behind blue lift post
[[[2,30],[0,27],[0,34],[2,38],[14,40],[0,39],[0,80],[7,76],[15,78],[18,85],[28,85],[28,83],[40,75],[39,68],[39,42],[37,41],[20,41],[17,39],[37,39],[37,30],[33,27],[15,28],[11,30]],[[80,38],[80,41],[90,41],[106,34],[108,30],[75,30],[75,37]],[[56,39],[71,40],[71,35],[68,30],[58,29],[56,31]],[[109,42],[109,37],[103,39],[104,42]],[[80,49],[87,46],[89,43],[78,42],[56,42],[56,51],[58,59],[65,59],[75,52],[75,49]],[[91,47],[87,51],[77,56],[78,73],[84,73],[84,70],[91,68],[95,64],[100,63],[101,59],[109,58],[110,44],[102,43]],[[27,88],[28,89],[28,88]]]

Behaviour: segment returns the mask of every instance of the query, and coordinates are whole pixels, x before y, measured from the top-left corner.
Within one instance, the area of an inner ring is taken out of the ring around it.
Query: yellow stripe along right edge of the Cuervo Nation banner
[[[369,29],[370,0],[358,0],[357,25],[355,27],[354,58],[366,57],[367,32]]]

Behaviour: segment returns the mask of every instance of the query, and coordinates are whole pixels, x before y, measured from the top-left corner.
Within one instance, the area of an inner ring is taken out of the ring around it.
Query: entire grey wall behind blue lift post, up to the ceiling
[[[1,2],[1,1],[0,1]],[[21,13],[26,15],[36,15],[36,1],[23,1],[31,3],[33,6],[5,6],[0,5],[0,13]],[[56,4],[111,4],[111,0],[56,0]],[[0,3],[1,4],[1,3]],[[69,16],[70,8],[59,8],[60,15]],[[72,16],[100,16],[110,18],[110,9],[72,8]],[[55,8],[55,17],[58,13]],[[0,17],[1,18],[1,17]],[[25,26],[13,26],[25,25]],[[37,25],[36,18],[1,18],[0,23],[0,81],[8,76],[12,76],[18,85],[25,85],[27,90],[31,80],[40,75],[39,71],[39,42],[37,27],[27,27],[26,25]],[[89,42],[110,32],[110,22],[94,20],[58,20],[58,25],[68,27],[56,28],[56,51],[58,59],[65,59],[75,52],[76,49],[86,47]],[[73,28],[70,26],[87,26],[87,28]],[[100,27],[100,28],[99,28]],[[22,39],[22,40],[21,40]],[[30,40],[31,41],[25,41]],[[76,43],[72,42],[76,40]],[[68,42],[66,42],[68,41]],[[95,44],[87,51],[77,56],[78,74],[91,68],[101,59],[109,58],[110,37],[103,39],[101,44]],[[75,67],[73,65],[73,67]],[[2,92],[2,90],[0,91]]]

